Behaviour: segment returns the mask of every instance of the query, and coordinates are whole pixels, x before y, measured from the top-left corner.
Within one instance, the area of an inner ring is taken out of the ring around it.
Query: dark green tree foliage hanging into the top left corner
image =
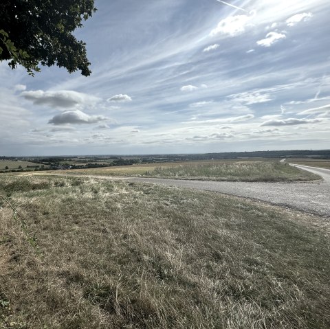
[[[95,11],[94,0],[1,0],[0,60],[31,75],[40,63],[89,76],[86,44],[72,32]]]

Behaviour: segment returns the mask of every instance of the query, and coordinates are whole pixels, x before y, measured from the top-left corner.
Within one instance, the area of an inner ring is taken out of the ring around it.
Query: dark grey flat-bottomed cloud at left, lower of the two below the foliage
[[[106,120],[109,120],[109,118],[102,115],[88,115],[82,111],[74,110],[55,115],[48,123],[58,126],[61,124],[95,124]]]

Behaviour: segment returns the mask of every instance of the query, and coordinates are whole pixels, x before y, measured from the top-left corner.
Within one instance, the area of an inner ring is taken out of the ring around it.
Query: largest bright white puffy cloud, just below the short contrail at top
[[[248,15],[236,15],[228,16],[227,18],[219,21],[217,27],[211,32],[210,36],[216,36],[217,34],[227,34],[228,36],[236,36],[245,32],[245,27],[253,17]]]

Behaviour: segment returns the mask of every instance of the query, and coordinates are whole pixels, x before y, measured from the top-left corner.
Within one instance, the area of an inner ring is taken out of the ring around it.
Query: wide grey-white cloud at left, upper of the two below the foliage
[[[21,95],[26,99],[33,102],[36,105],[48,105],[53,107],[70,108],[76,104],[95,104],[100,101],[96,98],[85,93],[78,93],[72,90],[61,91],[42,91],[31,90],[23,91]]]

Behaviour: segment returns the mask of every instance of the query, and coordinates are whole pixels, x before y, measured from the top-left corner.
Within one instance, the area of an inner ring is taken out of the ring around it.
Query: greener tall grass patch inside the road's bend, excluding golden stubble
[[[311,181],[318,175],[278,161],[240,161],[236,163],[194,163],[162,167],[144,173],[149,177],[212,181]]]

